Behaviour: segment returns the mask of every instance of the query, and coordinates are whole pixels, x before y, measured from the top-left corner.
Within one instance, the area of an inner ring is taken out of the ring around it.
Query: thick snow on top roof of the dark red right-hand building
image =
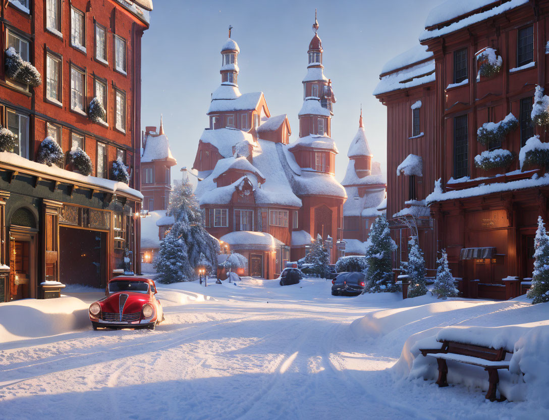
[[[434,9],[433,15],[429,14],[429,17],[427,18],[428,21],[436,21],[440,19],[445,19],[447,16],[451,16],[450,19],[455,19],[463,14],[466,14],[468,12],[472,12],[473,10],[477,10],[481,7],[483,7],[483,3],[486,0],[466,0],[466,1],[460,1],[455,2],[454,0],[449,0],[445,3],[442,3],[438,8]],[[470,15],[466,18],[463,18],[461,20],[458,20],[455,23],[452,23],[448,26],[441,27],[440,29],[433,29],[433,30],[424,30],[421,35],[419,35],[419,41],[427,41],[432,38],[436,38],[439,36],[447,35],[448,33],[455,32],[457,30],[463,29],[464,27],[473,25],[475,23],[479,23],[483,20],[493,18],[494,16],[500,15],[502,13],[507,12],[508,10],[517,8],[519,6],[522,6],[523,4],[528,3],[529,0],[510,0],[508,2],[502,3],[500,5],[496,5],[496,7],[491,8],[489,10],[486,10],[485,12],[481,13],[475,13],[473,15]],[[461,6],[461,3],[464,3],[463,6]],[[476,4],[475,4],[476,3]],[[489,2],[488,4],[497,4],[499,2]],[[447,7],[447,12],[442,12],[442,9],[444,7]],[[477,7],[475,7],[477,6]],[[473,9],[472,9],[473,7]],[[438,11],[436,10],[438,9]],[[469,10],[467,10],[469,9]],[[460,13],[462,10],[466,10],[464,13]],[[458,14],[456,14],[458,13]],[[429,20],[430,19],[430,20]],[[449,20],[449,19],[446,19]],[[433,25],[429,25],[433,26]],[[429,27],[428,25],[425,25],[425,27]]]

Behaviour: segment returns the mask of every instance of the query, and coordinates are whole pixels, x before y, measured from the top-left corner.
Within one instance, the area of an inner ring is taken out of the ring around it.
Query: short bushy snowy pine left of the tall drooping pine
[[[160,283],[177,283],[193,278],[193,271],[187,258],[187,245],[171,231],[160,242],[160,249],[154,259],[154,268]]]

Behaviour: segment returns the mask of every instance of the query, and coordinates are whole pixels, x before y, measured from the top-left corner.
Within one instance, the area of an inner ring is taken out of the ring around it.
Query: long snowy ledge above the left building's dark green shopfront
[[[19,169],[20,172],[25,172],[25,170],[36,172],[41,174],[41,176],[46,179],[48,178],[48,175],[55,176],[56,178],[61,178],[61,180],[64,180],[64,182],[67,183],[87,184],[88,186],[91,185],[101,188],[103,191],[109,193],[129,195],[131,198],[138,199],[139,201],[143,199],[143,194],[141,194],[141,192],[130,188],[128,184],[125,184],[124,182],[111,181],[94,176],[80,175],[80,173],[66,171],[55,165],[48,166],[33,162],[32,160],[22,158],[15,153],[0,152],[0,165]]]

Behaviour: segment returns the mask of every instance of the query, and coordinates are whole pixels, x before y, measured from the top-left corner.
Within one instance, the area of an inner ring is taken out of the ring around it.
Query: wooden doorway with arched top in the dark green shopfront
[[[21,207],[10,217],[9,227],[9,300],[36,298],[36,217]]]

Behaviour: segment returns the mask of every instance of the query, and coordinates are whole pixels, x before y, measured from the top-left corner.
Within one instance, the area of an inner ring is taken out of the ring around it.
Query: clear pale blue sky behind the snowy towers
[[[208,126],[210,94],[221,78],[220,49],[233,25],[238,42],[240,92],[265,93],[271,115],[288,114],[290,142],[298,138],[311,25],[318,9],[324,74],[337,103],[332,138],[338,180],[362,103],[374,159],[386,161],[386,109],[372,91],[383,64],[417,44],[429,10],[442,0],[189,1],[156,0],[143,36],[142,128],[164,128],[177,169],[192,167],[200,134]],[[172,177],[179,177],[178,171]]]

